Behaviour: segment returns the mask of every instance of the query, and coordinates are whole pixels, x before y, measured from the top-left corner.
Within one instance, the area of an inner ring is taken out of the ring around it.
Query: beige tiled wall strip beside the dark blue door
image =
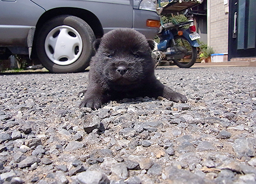
[[[208,44],[215,53],[228,52],[228,13],[225,13],[224,0],[208,0],[209,30]]]

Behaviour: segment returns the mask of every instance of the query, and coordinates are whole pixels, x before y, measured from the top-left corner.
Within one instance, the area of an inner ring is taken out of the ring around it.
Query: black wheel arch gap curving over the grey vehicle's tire
[[[41,27],[45,24],[45,22],[47,22],[48,20],[50,20],[56,16],[60,16],[60,15],[77,16],[87,22],[87,24],[92,28],[96,38],[100,38],[103,36],[104,32],[103,32],[102,25],[101,25],[99,19],[97,18],[97,16],[95,14],[93,14],[92,12],[85,10],[85,9],[81,9],[81,8],[69,8],[69,7],[54,8],[54,9],[46,11],[38,19],[37,24],[36,24],[34,38],[33,38],[33,45],[36,45],[38,33],[39,33]],[[32,47],[31,58],[32,59],[37,58],[36,49],[33,47]]]

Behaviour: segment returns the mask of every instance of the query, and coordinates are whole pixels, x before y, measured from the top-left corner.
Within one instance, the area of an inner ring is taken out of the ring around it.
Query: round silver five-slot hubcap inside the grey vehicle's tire
[[[47,35],[45,51],[48,58],[55,64],[72,64],[81,55],[82,38],[70,26],[58,26]]]

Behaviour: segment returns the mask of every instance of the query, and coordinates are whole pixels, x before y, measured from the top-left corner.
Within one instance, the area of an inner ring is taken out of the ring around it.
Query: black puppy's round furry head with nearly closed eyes
[[[94,42],[92,67],[103,79],[116,85],[136,85],[154,74],[153,40],[133,29],[117,29]]]

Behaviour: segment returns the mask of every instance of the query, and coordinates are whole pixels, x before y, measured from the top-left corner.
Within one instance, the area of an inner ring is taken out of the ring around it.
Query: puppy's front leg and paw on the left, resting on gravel
[[[92,109],[98,109],[103,103],[108,101],[104,95],[104,89],[99,84],[90,84],[84,98],[79,107],[91,107]]]

